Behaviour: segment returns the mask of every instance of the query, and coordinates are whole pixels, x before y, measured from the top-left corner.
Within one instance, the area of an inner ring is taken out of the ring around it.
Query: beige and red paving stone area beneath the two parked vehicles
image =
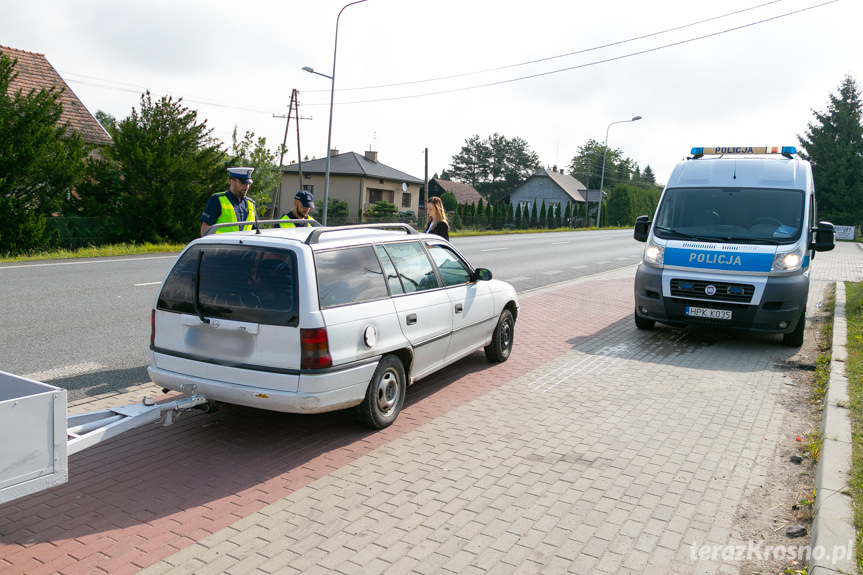
[[[818,254],[810,309],[863,277],[856,249]],[[745,544],[794,351],[639,331],[633,275],[526,294],[510,361],[419,382],[382,432],[240,409],[83,452],[68,486],[0,506],[0,574],[742,573],[694,550]]]

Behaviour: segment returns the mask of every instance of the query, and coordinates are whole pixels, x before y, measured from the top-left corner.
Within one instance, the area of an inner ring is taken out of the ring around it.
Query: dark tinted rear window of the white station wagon
[[[290,251],[202,245],[184,253],[174,265],[156,307],[200,312],[208,318],[296,326],[295,270],[296,258]]]

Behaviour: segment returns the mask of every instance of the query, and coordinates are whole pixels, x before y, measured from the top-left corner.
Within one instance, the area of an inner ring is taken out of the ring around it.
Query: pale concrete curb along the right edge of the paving
[[[849,403],[845,377],[847,340],[845,283],[837,281],[832,361],[821,421],[823,446],[815,472],[815,516],[809,543],[810,575],[857,573],[854,515],[851,498],[846,492],[851,463],[851,421],[845,407]]]

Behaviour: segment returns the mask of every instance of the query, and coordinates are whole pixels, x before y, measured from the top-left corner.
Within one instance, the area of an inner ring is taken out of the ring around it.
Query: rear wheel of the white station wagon
[[[407,391],[405,367],[394,355],[386,355],[375,370],[366,397],[357,406],[360,422],[373,429],[392,425],[405,402]]]

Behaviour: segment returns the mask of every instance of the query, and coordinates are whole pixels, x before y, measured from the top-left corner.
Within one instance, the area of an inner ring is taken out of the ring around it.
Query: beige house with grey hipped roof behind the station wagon
[[[300,188],[311,192],[315,200],[322,200],[325,174],[326,158],[283,166],[276,212],[288,212]],[[361,213],[380,201],[395,204],[399,211],[417,213],[423,184],[421,178],[380,163],[377,152],[367,151],[362,155],[331,152],[329,197],[348,202],[349,221],[359,221]],[[314,213],[312,216],[317,217]]]

